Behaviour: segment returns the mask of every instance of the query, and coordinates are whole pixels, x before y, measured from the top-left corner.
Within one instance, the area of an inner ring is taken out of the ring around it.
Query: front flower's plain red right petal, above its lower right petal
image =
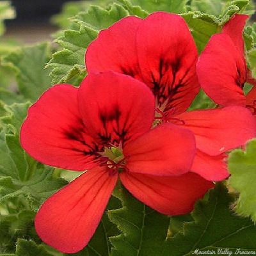
[[[180,175],[195,157],[193,133],[172,124],[159,125],[124,147],[127,168],[151,175]]]

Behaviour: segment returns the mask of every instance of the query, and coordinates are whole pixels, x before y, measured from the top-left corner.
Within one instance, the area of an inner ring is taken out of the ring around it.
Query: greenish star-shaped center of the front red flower
[[[118,145],[118,147],[114,145],[113,147],[104,147],[104,152],[100,152],[99,154],[105,157],[104,163],[101,165],[108,166],[109,175],[115,175],[116,172],[127,170],[122,145]]]

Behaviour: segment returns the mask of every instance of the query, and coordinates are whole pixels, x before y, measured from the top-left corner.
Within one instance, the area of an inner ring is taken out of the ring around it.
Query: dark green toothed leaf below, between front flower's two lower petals
[[[122,234],[109,238],[114,246],[111,255],[160,255],[170,218],[141,204],[124,188],[117,188],[115,196],[123,207],[109,211],[108,216]]]

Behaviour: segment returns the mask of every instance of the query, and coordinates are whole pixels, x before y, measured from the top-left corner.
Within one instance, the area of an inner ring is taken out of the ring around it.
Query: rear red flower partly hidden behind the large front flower
[[[124,18],[100,31],[85,60],[89,73],[113,70],[147,84],[156,97],[156,120],[195,134],[197,150],[191,171],[205,179],[227,178],[225,152],[255,136],[255,120],[245,108],[186,112],[199,90],[198,53],[179,15],[156,12],[144,20]]]

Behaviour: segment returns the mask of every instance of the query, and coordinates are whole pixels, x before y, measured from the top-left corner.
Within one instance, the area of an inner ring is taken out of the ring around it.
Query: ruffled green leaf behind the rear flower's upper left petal
[[[91,6],[88,12],[79,13],[72,20],[79,25],[79,29],[68,29],[56,40],[64,49],[55,52],[47,64],[47,67],[51,68],[52,83],[68,82],[78,85],[86,74],[84,67],[86,47],[96,38],[99,30],[108,28],[128,14],[124,7],[118,4],[113,4],[109,10]]]

